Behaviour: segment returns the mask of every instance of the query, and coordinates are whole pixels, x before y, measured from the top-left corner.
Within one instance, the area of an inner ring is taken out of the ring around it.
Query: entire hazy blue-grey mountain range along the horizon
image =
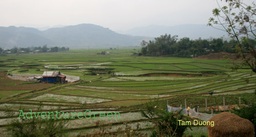
[[[29,27],[0,27],[0,47],[68,46],[70,48],[136,46],[142,40],[153,40],[165,33],[179,38],[220,38],[225,32],[206,25],[178,25],[137,27],[119,33],[93,24],[79,24],[47,30]],[[123,33],[123,34],[120,34]]]

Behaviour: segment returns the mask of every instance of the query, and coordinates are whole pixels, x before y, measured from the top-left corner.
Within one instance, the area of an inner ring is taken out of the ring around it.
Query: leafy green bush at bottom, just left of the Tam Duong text
[[[146,104],[146,110],[141,110],[143,117],[149,118],[154,124],[151,136],[182,136],[189,126],[179,126],[178,120],[186,120],[181,111],[168,112],[166,105],[159,100]]]

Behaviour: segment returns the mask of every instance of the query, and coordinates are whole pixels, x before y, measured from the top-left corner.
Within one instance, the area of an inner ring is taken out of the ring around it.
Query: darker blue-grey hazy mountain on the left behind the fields
[[[85,48],[87,46],[134,46],[141,40],[152,39],[121,35],[108,28],[93,24],[79,24],[40,31],[27,27],[0,27],[0,47],[12,48],[28,46],[69,46]]]

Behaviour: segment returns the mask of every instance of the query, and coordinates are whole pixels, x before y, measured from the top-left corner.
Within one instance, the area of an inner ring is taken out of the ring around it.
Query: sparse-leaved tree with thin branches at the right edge
[[[256,73],[256,48],[251,39],[256,40],[256,5],[244,3],[241,0],[226,0],[228,6],[213,9],[214,18],[207,25],[221,25],[231,38],[237,40],[236,53],[242,58],[243,64],[248,65]],[[219,28],[217,28],[219,29]]]

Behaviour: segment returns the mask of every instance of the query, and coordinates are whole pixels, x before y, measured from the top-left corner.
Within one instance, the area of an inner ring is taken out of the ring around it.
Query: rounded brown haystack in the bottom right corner
[[[223,112],[210,118],[214,126],[207,125],[209,137],[229,137],[229,136],[253,136],[253,124],[245,118],[239,117],[229,112]]]

